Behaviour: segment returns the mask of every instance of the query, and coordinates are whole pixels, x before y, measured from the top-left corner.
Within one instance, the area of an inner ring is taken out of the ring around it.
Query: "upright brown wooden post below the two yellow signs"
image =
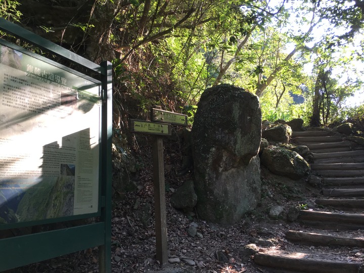
[[[163,139],[153,137],[153,181],[156,232],[156,258],[163,266],[168,261],[167,220],[165,206]]]

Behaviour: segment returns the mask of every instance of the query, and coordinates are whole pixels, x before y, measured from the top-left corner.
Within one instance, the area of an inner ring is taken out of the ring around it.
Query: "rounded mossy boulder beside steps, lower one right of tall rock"
[[[285,148],[268,146],[260,156],[262,164],[272,173],[299,179],[308,176],[310,167],[298,153]]]

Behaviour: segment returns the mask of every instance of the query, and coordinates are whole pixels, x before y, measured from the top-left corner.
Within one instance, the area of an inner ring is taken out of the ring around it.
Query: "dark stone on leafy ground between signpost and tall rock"
[[[197,204],[194,182],[187,180],[171,196],[171,205],[176,209],[183,209],[185,212],[192,211]]]

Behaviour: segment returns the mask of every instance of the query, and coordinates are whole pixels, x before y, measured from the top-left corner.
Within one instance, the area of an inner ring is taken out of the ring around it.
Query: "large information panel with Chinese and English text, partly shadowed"
[[[97,80],[0,43],[2,224],[99,209]]]

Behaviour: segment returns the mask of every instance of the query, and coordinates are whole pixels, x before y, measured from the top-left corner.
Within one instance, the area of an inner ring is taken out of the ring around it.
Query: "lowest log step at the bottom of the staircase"
[[[293,253],[291,256],[257,253],[254,262],[261,266],[307,273],[358,273],[361,266],[360,263],[307,259],[304,253]]]

